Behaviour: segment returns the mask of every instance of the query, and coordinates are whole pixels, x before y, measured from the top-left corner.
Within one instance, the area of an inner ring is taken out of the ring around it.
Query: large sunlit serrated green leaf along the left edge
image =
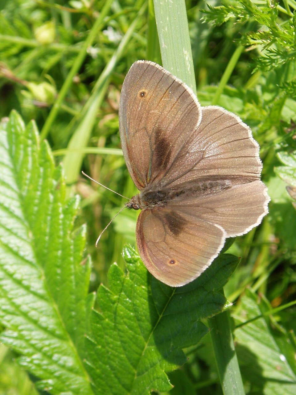
[[[78,200],[65,201],[61,168],[34,122],[0,125],[0,340],[52,394],[91,394],[82,364],[90,262]]]

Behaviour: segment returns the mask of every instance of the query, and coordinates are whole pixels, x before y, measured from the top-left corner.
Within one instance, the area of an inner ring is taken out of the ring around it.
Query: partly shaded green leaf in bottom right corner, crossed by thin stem
[[[247,290],[242,298],[240,316],[236,324],[242,324],[263,314],[267,308],[264,300]],[[242,374],[249,383],[250,393],[262,395],[294,395],[296,393],[296,369],[289,363],[287,354],[295,355],[295,349],[285,335],[285,355],[271,330],[268,318],[260,317],[234,331],[236,352]],[[278,333],[279,337],[283,334]],[[283,348],[284,349],[284,348]],[[289,349],[289,351],[288,351]]]

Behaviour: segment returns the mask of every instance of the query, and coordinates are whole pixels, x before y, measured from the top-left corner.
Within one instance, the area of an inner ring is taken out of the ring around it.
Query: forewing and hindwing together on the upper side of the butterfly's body
[[[200,107],[190,88],[153,62],[135,62],[127,73],[119,128],[139,190],[197,179],[244,184],[260,177],[259,146],[250,128],[221,107]]]

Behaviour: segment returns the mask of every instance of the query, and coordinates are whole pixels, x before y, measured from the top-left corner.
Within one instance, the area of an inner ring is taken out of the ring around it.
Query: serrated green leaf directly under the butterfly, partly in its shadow
[[[197,280],[171,288],[147,272],[132,248],[125,249],[124,258],[128,274],[114,264],[109,288],[99,287],[87,369],[97,394],[168,391],[165,372],[184,364],[182,348],[208,332],[199,320],[230,305],[219,290],[238,259],[221,255]]]

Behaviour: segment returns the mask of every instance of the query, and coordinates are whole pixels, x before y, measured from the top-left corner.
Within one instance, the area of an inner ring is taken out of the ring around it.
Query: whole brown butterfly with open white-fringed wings
[[[226,237],[268,213],[259,145],[222,107],[201,107],[169,71],[135,62],[124,80],[119,130],[127,169],[140,190],[136,238],[147,269],[170,286],[197,278]]]

